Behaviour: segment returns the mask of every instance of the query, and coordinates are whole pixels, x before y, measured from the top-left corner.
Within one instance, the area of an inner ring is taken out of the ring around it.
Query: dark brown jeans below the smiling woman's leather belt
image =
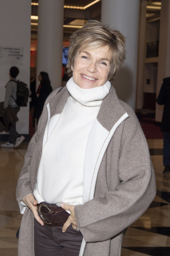
[[[63,233],[62,227],[42,227],[34,220],[35,256],[79,256],[82,240],[81,232],[72,225]]]

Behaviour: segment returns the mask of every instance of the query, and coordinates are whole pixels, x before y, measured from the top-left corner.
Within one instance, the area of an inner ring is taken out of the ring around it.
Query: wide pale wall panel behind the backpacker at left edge
[[[0,46],[4,48],[23,47],[22,61],[2,52],[0,60],[0,102],[4,101],[5,85],[9,81],[9,69],[16,66],[19,69],[17,79],[30,85],[30,39],[31,39],[31,0],[1,0],[0,1]],[[17,114],[16,130],[29,140],[29,102],[27,107],[21,107]],[[3,137],[4,134],[0,135]]]

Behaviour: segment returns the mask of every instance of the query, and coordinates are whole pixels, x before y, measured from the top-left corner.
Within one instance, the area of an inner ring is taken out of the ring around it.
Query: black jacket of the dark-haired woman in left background
[[[40,92],[39,92],[39,97],[36,96],[36,98],[35,98],[34,118],[36,118],[36,119],[40,118],[40,115],[43,112],[43,107],[44,107],[45,100],[47,99],[48,95],[51,92],[52,92],[51,85],[43,83],[42,87],[40,89]],[[38,90],[37,90],[36,94],[37,93],[38,93]]]

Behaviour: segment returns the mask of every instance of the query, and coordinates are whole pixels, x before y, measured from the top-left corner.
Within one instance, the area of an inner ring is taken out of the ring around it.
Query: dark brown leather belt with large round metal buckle
[[[62,227],[69,217],[62,207],[46,202],[38,204],[38,214],[45,225],[52,227]]]

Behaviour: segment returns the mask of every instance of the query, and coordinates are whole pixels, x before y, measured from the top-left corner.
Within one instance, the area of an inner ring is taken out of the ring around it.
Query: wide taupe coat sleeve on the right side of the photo
[[[103,196],[95,194],[92,200],[74,208],[77,226],[86,242],[104,241],[119,234],[147,210],[155,197],[156,185],[149,149],[140,124],[135,114],[132,115],[133,118],[127,118],[122,124],[122,132],[117,131],[110,142],[109,158],[112,159],[108,158],[108,152],[103,159],[105,165],[102,168],[106,168],[106,173],[102,175],[107,177],[107,172],[116,172],[108,177],[117,177],[119,181],[115,187],[108,185]],[[119,139],[120,147],[116,143]],[[111,148],[113,151],[120,150],[118,163]],[[103,189],[102,182],[97,185],[98,190]]]

